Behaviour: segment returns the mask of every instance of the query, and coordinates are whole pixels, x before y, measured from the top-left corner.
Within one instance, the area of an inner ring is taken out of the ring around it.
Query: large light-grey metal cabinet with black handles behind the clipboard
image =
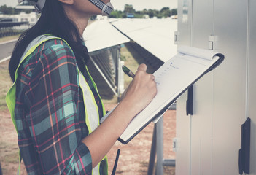
[[[251,174],[256,174],[256,2],[179,0],[178,45],[213,49],[225,61],[177,101],[176,174],[238,174],[241,124],[252,119]],[[183,19],[185,18],[185,20]]]

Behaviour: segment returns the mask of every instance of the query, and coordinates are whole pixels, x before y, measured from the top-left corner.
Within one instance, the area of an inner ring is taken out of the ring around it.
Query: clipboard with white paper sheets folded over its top
[[[177,55],[155,71],[158,93],[150,104],[137,114],[118,141],[128,144],[149,123],[157,121],[169,106],[198,81],[224,61],[225,56],[212,50],[181,46]],[[109,112],[110,114],[111,112]]]

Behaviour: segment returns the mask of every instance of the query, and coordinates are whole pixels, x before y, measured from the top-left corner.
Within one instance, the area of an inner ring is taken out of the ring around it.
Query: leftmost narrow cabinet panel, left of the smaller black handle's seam
[[[185,11],[187,10],[187,14]],[[192,23],[191,0],[178,0],[178,41],[179,45],[190,46],[190,31]],[[176,118],[176,168],[175,174],[190,174],[190,116],[186,115],[187,93],[177,100]]]

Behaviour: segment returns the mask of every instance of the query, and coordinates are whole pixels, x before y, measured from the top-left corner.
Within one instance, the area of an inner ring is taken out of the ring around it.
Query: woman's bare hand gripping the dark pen
[[[157,93],[155,77],[152,74],[147,74],[146,71],[147,66],[145,64],[139,65],[135,77],[125,90],[121,101],[121,103],[125,101],[126,106],[131,107],[136,114],[150,104]]]

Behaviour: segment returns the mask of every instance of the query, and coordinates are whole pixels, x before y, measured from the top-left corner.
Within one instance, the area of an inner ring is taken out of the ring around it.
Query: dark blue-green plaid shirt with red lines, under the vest
[[[102,117],[98,93],[88,73],[83,74]],[[91,174],[90,151],[81,142],[88,136],[88,128],[77,63],[65,42],[44,42],[21,64],[15,118],[28,174]]]

